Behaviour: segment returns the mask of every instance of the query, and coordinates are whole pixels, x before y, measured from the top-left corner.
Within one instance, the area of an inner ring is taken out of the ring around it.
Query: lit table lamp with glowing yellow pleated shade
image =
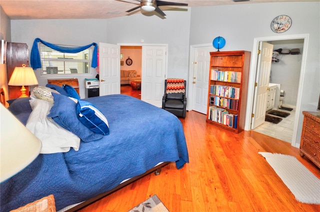
[[[20,89],[21,95],[19,96],[19,98],[28,97],[25,94],[26,89],[24,85],[35,85],[35,84],[38,84],[38,81],[36,80],[34,71],[31,67],[26,67],[25,64],[22,64],[22,67],[14,68],[8,83],[8,85],[22,86]]]

